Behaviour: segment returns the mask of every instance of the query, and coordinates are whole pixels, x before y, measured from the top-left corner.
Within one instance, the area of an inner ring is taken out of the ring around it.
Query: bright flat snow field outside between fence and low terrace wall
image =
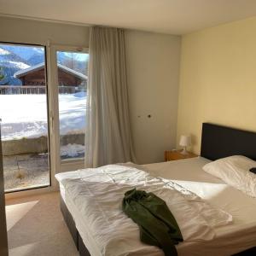
[[[61,135],[83,133],[86,96],[83,92],[59,96]],[[48,134],[45,95],[0,95],[2,139]]]

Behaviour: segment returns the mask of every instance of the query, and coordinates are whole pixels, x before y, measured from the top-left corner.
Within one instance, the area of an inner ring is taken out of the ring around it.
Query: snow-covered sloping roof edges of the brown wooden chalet
[[[82,79],[82,80],[87,80],[88,79],[88,77],[85,76],[84,74],[79,73],[79,72],[77,72],[77,71],[75,71],[75,70],[73,70],[73,69],[71,69],[69,67],[63,66],[60,63],[58,63],[57,66],[61,70],[63,70],[64,72],[70,73],[70,74],[72,74],[73,76],[75,76],[75,77],[77,77],[79,79]],[[15,72],[14,77],[16,79],[20,79],[20,77],[24,77],[26,74],[33,73],[33,72],[38,71],[38,70],[40,70],[42,68],[44,68],[44,62],[43,63],[39,63],[37,65],[34,65],[32,67],[27,67],[25,69],[19,70],[19,71]]]

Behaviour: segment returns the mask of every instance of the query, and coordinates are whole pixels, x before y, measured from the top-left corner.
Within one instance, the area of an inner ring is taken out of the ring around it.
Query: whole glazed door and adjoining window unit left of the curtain
[[[88,63],[87,49],[0,43],[5,192],[48,187],[82,166]]]

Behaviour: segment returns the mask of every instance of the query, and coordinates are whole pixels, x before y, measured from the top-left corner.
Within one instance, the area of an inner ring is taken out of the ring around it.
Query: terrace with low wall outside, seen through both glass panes
[[[61,136],[61,159],[84,157],[84,134]],[[2,141],[3,176],[6,192],[49,186],[48,138]]]

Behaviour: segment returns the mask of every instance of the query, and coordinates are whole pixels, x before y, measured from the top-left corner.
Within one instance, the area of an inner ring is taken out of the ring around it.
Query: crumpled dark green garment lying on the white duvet
[[[141,241],[160,247],[166,256],[177,255],[174,246],[183,236],[166,202],[153,193],[131,189],[122,202],[125,214],[139,226]]]

